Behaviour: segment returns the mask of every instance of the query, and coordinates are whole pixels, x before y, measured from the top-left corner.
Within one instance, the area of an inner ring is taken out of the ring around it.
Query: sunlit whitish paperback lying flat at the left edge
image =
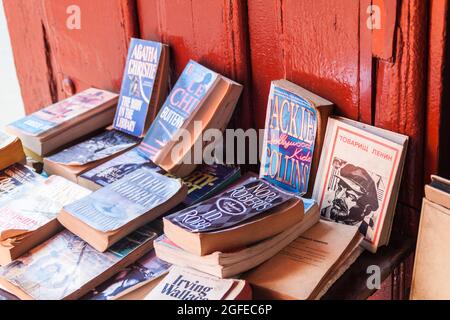
[[[58,176],[34,180],[0,198],[0,264],[5,265],[53,236],[64,205],[90,193]]]

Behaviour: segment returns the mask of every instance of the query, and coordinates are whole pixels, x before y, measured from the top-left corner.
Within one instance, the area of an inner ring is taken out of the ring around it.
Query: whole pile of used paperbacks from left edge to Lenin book
[[[0,132],[1,297],[318,299],[388,243],[407,137],[277,80],[259,175],[241,175],[197,151],[219,146],[203,134],[242,86],[190,60],[169,92],[169,69],[168,46],[131,39],[119,94],[89,88]]]

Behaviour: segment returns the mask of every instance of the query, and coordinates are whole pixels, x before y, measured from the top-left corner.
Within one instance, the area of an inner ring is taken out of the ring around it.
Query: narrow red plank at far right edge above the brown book
[[[446,59],[448,52],[448,0],[430,1],[430,29],[428,52],[428,81],[427,81],[427,110],[426,110],[426,136],[425,136],[425,182],[430,181],[431,174],[450,174],[448,168],[448,144],[450,142],[450,101],[448,79],[445,79]],[[448,63],[448,60],[447,60]],[[447,103],[446,103],[447,102]],[[446,130],[446,131],[444,131]],[[445,156],[447,152],[447,156]],[[447,168],[439,170],[439,164],[447,160]],[[441,171],[441,172],[439,172]],[[444,172],[447,171],[447,172]]]

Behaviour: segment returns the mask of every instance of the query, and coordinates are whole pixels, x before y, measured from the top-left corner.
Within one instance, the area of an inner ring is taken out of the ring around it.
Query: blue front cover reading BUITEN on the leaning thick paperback
[[[215,83],[218,74],[190,60],[149,128],[139,150],[154,160]]]

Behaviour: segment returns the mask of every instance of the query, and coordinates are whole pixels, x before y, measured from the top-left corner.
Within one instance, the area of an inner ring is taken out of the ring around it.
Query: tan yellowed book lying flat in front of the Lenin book
[[[360,241],[356,227],[320,221],[244,279],[257,298],[310,299],[328,282],[340,258],[355,247],[355,240]]]

